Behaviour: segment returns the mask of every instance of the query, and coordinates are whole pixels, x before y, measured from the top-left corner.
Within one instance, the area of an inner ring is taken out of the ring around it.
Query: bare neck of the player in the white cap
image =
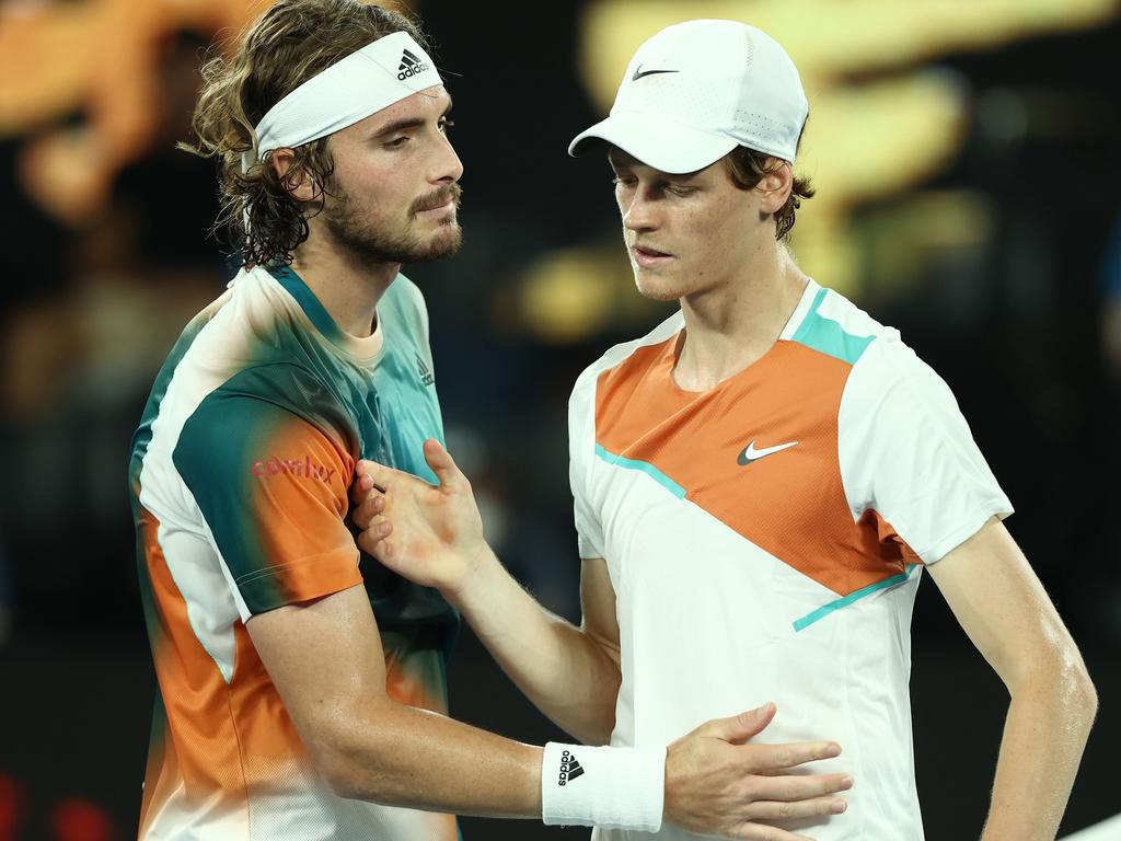
[[[682,298],[685,334],[675,382],[706,391],[758,361],[778,340],[807,281],[786,248],[775,243],[733,281]]]

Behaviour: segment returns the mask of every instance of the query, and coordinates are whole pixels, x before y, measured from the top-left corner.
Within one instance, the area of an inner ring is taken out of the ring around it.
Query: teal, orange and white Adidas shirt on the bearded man
[[[443,440],[424,299],[397,277],[373,335],[342,331],[289,268],[242,270],[186,327],[133,437],[132,509],[159,697],[140,838],[456,838],[454,819],[336,797],[245,622],[365,584],[387,691],[446,712],[457,628],[439,594],[360,564],[354,464],[429,481]]]

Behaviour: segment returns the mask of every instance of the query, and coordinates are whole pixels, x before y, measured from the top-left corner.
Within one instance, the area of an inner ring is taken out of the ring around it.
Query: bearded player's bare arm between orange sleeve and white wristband
[[[540,816],[540,748],[386,694],[385,655],[362,586],[261,613],[245,628],[312,760],[340,796]]]

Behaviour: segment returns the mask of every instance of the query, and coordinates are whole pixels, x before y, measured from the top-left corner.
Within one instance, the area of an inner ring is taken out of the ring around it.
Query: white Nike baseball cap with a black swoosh
[[[778,41],[734,20],[689,20],[638,48],[611,115],[580,133],[568,154],[605,140],[675,174],[703,169],[736,146],[794,163],[808,113]]]

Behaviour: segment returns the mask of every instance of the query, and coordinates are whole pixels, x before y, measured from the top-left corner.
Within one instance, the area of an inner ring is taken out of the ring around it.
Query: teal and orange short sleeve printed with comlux
[[[354,461],[337,441],[274,403],[222,390],[185,424],[175,468],[242,619],[361,583],[345,524]]]

